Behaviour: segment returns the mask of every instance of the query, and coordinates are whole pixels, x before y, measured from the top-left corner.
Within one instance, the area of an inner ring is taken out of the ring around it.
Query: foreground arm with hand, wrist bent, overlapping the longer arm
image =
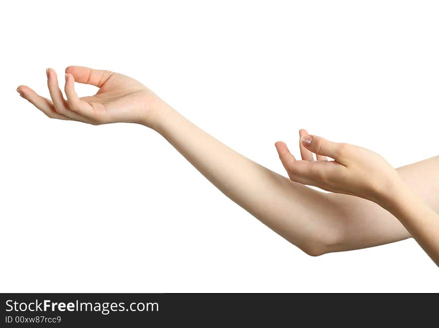
[[[301,146],[321,160],[296,160],[282,142],[276,144],[292,181],[370,200],[392,213],[439,265],[439,215],[412,190],[380,155],[362,147],[302,135]],[[327,160],[328,156],[334,160]],[[436,166],[425,176],[436,177]],[[436,194],[437,195],[437,194]]]

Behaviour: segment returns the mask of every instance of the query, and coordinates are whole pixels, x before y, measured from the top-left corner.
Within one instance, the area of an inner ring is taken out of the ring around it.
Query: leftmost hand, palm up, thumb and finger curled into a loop
[[[58,87],[56,72],[48,68],[46,73],[51,100],[25,85],[20,85],[17,91],[51,118],[94,125],[132,122],[151,126],[159,104],[163,103],[154,92],[131,77],[82,66],[65,69],[65,100]],[[79,98],[74,82],[92,84],[99,90],[93,96]]]

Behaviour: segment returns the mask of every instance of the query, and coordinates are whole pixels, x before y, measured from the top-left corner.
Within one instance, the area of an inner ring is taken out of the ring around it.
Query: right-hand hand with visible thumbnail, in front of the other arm
[[[300,130],[303,160],[296,160],[284,142],[278,141],[275,146],[290,179],[302,184],[380,202],[402,182],[396,170],[377,153],[308,135],[306,130]]]

